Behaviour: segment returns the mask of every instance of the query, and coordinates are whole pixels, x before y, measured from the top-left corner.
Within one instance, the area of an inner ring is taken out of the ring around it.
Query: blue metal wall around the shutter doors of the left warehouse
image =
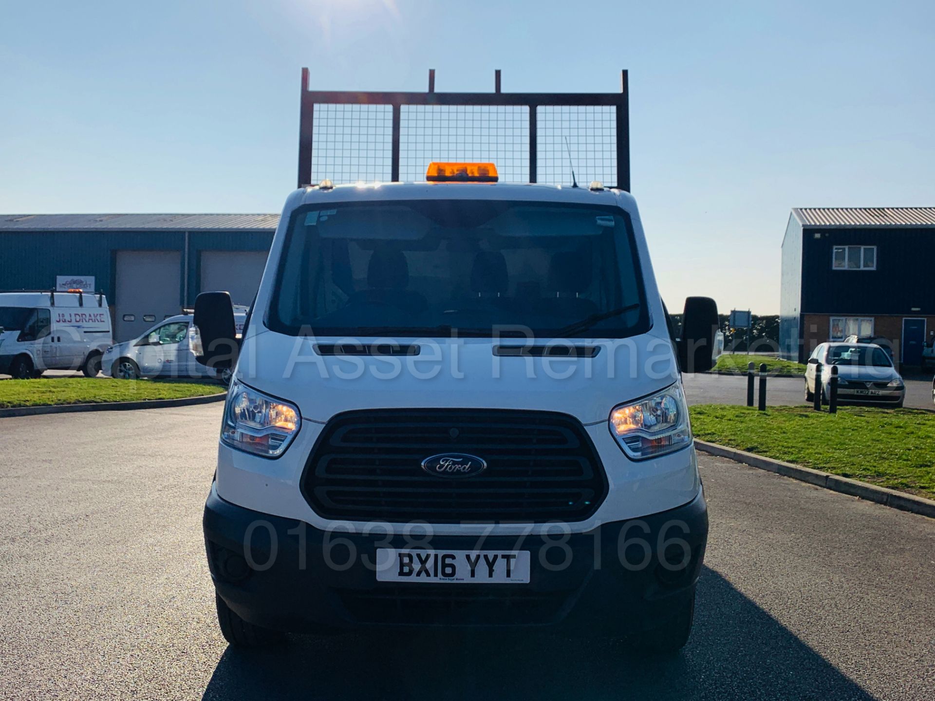
[[[189,234],[189,303],[198,284],[201,250],[269,250],[273,231],[193,232]],[[48,290],[57,275],[93,275],[98,290],[116,303],[114,284],[118,250],[178,250],[184,262],[185,233],[41,231],[0,233],[0,289]],[[184,265],[184,263],[182,264]]]

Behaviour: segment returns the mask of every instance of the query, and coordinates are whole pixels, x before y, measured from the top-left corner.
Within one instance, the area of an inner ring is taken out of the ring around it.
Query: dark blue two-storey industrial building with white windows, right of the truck
[[[935,331],[935,207],[795,208],[783,239],[780,348],[802,362],[815,346],[883,336],[920,365]]]

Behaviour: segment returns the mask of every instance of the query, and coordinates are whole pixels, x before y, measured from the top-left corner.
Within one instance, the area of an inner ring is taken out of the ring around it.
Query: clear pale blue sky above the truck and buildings
[[[670,308],[779,308],[790,207],[935,205],[935,3],[0,2],[0,212],[278,211],[312,87],[613,92]]]

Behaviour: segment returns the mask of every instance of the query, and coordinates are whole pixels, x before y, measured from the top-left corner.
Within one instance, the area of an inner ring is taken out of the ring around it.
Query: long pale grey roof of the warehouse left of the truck
[[[279,214],[0,214],[0,231],[272,231]]]

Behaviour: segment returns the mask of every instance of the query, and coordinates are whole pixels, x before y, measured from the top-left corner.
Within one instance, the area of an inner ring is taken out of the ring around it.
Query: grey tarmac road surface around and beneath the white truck
[[[228,648],[201,537],[220,416],[0,419],[0,698],[935,697],[935,521],[705,455],[711,537],[674,659],[539,632]]]

